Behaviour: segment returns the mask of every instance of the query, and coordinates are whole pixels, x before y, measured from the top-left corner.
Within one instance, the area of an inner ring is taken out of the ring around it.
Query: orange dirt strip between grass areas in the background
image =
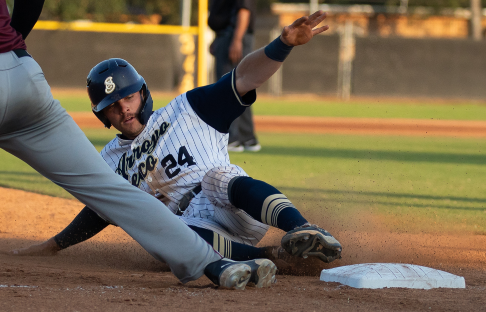
[[[71,112],[80,127],[101,128],[91,112]],[[486,121],[308,116],[254,117],[257,131],[367,135],[486,136]]]

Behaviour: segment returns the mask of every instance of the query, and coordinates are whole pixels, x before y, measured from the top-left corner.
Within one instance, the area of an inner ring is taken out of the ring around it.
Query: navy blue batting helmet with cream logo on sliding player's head
[[[91,109],[107,128],[111,122],[101,110],[140,90],[144,94],[142,109],[138,114],[140,123],[146,124],[152,114],[153,100],[145,79],[124,59],[110,58],[94,66],[86,79],[86,87]]]

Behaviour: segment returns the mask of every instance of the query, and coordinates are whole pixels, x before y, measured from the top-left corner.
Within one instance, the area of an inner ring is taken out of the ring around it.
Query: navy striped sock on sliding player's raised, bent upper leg
[[[277,188],[250,176],[233,177],[228,183],[228,198],[235,207],[254,219],[286,232],[307,222]]]

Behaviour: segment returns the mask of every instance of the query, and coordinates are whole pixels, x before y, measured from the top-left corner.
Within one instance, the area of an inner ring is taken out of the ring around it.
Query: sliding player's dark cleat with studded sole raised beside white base
[[[342,250],[339,241],[327,230],[310,223],[288,231],[282,237],[282,247],[294,256],[318,257],[327,263],[340,259]]]

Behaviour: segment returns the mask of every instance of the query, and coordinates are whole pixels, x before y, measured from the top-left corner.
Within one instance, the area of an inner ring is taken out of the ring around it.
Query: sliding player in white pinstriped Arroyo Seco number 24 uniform
[[[311,225],[274,186],[231,164],[227,152],[231,122],[255,102],[255,89],[281,66],[293,46],[328,28],[312,30],[325,17],[318,11],[299,18],[216,83],[187,91],[156,111],[145,80],[132,65],[120,58],[100,62],[87,78],[92,110],[106,127],[121,132],[101,156],[132,185],[180,215],[226,258],[340,258],[342,247],[330,233]],[[109,224],[85,207],[54,237],[12,252],[54,254]],[[270,226],[287,232],[282,246],[256,247]],[[274,280],[261,279],[264,286]]]

